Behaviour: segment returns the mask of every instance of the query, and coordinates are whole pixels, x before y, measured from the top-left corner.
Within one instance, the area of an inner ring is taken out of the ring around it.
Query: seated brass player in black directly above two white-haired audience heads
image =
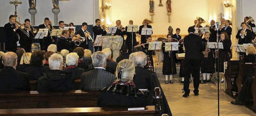
[[[58,42],[58,51],[60,52],[63,49],[72,52],[74,49],[74,43],[76,41],[76,37],[73,37],[71,41],[69,41],[69,31],[63,30]]]

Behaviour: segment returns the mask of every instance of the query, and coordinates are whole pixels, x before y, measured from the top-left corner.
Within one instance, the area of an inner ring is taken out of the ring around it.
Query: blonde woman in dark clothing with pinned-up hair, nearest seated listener
[[[131,60],[125,59],[119,62],[116,67],[117,80],[98,95],[98,106],[147,106],[148,96],[138,90],[132,82],[134,74],[135,68]]]

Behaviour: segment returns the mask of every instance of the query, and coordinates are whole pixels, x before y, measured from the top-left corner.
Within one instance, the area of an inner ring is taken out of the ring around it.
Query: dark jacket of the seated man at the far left
[[[0,70],[0,92],[29,91],[28,74],[6,66]]]

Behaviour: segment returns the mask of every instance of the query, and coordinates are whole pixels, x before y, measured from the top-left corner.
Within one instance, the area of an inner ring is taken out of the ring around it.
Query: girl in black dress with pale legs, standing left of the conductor
[[[172,41],[172,36],[168,34],[166,42],[171,42],[171,41]],[[164,54],[162,73],[163,75],[165,75],[165,84],[168,84],[168,76],[170,76],[170,84],[173,84],[172,75],[177,74],[176,63],[175,63],[176,55],[173,54],[172,51],[165,51],[166,42],[163,42],[162,44],[162,52]]]

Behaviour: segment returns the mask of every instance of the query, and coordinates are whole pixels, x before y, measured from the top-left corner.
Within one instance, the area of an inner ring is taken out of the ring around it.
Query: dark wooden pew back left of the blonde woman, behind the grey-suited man
[[[99,93],[81,90],[67,93],[3,93],[0,94],[0,109],[96,107]]]

